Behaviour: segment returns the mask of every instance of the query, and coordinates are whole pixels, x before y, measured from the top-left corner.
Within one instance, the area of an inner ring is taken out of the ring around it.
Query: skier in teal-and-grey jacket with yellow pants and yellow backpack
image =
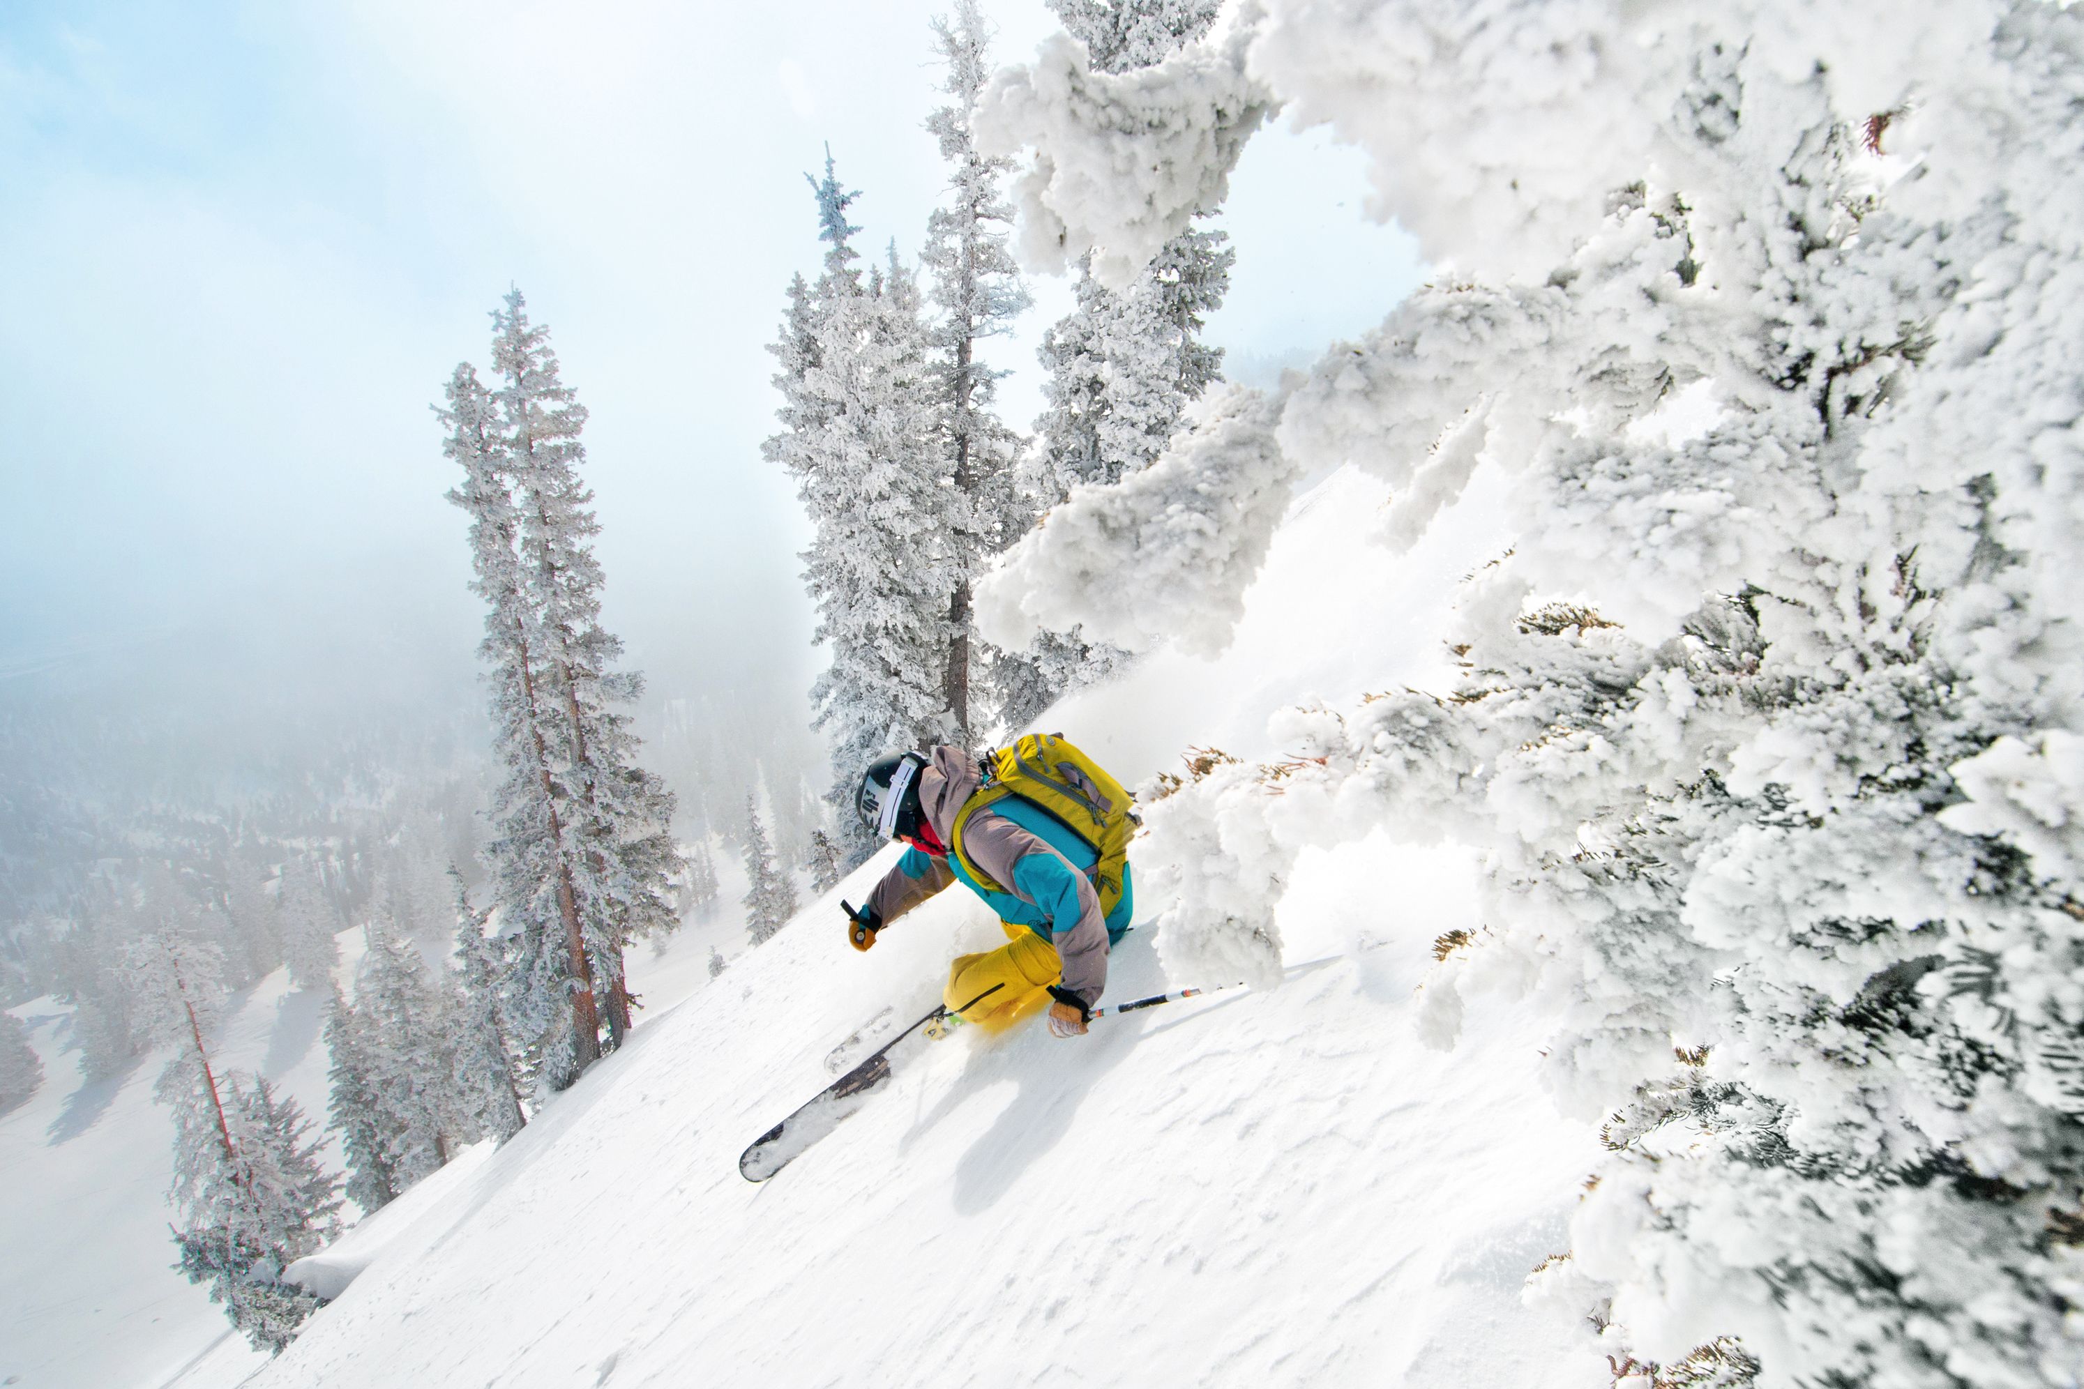
[[[911,845],[848,918],[854,950],[961,881],[998,912],[1009,941],[957,956],[942,993],[950,1016],[1002,1033],[1048,1002],[1050,1035],[1086,1031],[1107,987],[1107,952],[1134,912],[1134,816],[1119,783],[1061,737],[1027,735],[982,768],[946,746],[882,758],[863,773],[854,808],[869,833]]]

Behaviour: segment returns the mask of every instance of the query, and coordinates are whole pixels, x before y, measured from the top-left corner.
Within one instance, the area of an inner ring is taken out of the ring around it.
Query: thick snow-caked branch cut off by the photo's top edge
[[[1371,212],[1417,233],[1457,275],[1546,277],[1617,190],[1713,198],[1742,92],[1713,65],[1778,81],[1811,75],[1859,127],[1890,112],[1892,146],[1934,137],[1909,96],[1932,73],[1980,65],[1990,6],[1842,0],[1271,0],[1246,71],[1298,127],[1330,125],[1367,152]],[[1719,58],[1717,58],[1719,60]],[[1709,100],[1703,100],[1707,96]],[[1909,110],[1907,110],[1909,106]],[[1698,206],[1698,204],[1696,204]]]

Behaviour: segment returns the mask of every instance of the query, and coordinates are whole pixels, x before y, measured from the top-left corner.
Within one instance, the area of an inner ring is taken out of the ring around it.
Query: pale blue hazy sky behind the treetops
[[[235,623],[279,668],[371,641],[469,662],[427,410],[519,283],[592,410],[609,618],[667,691],[807,679],[802,523],[759,456],[782,287],[832,142],[863,248],[917,254],[940,169],[927,17],[892,0],[15,0],[0,10],[0,660]],[[1055,29],[1004,0],[998,58]],[[1261,135],[1234,181],[1240,364],[1419,275],[1361,165]],[[1019,339],[1009,419],[1040,404]]]

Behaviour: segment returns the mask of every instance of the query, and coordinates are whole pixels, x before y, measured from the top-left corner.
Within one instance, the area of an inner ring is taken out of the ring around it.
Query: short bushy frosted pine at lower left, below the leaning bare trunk
[[[321,1166],[298,1104],[277,1100],[265,1079],[227,1075],[223,1100],[223,1141],[179,1147],[177,1266],[208,1285],[254,1349],[281,1354],[323,1306],[281,1274],[340,1233],[340,1179]]]

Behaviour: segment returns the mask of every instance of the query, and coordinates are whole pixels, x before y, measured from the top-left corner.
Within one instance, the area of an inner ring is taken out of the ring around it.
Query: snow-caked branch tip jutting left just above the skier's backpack
[[[1215,654],[1244,614],[1294,464],[1273,404],[1232,387],[1146,471],[1080,487],[977,589],[977,625],[1009,650],[1038,629]]]

